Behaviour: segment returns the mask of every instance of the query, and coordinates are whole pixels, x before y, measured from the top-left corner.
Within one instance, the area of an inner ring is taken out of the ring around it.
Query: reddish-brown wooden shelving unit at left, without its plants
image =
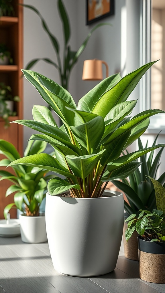
[[[17,116],[9,117],[10,121],[22,119],[23,114],[23,79],[21,78],[21,68],[23,65],[23,0],[12,0],[14,6],[14,16],[0,17],[0,43],[4,43],[10,50],[13,58],[12,65],[0,65],[0,82],[11,86],[12,95],[19,96],[21,102],[15,103],[14,110]],[[0,117],[0,139],[5,139],[17,148],[22,154],[23,133],[22,126],[11,123],[8,129],[4,128],[4,120]],[[2,159],[0,155],[0,159]],[[5,168],[4,168],[5,169]],[[12,172],[12,170],[8,170]],[[4,207],[13,202],[12,195],[5,198],[7,188],[11,185],[8,180],[0,181],[0,219],[3,219]],[[16,217],[16,210],[11,210],[11,217]]]

